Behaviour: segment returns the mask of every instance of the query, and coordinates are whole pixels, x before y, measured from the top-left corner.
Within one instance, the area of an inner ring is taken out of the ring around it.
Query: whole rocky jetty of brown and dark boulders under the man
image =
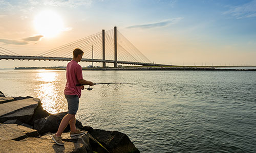
[[[59,146],[51,139],[67,114],[50,114],[33,97],[5,97],[0,91],[0,152],[140,152],[127,135],[83,126],[76,127],[86,134],[70,137],[67,126]]]

